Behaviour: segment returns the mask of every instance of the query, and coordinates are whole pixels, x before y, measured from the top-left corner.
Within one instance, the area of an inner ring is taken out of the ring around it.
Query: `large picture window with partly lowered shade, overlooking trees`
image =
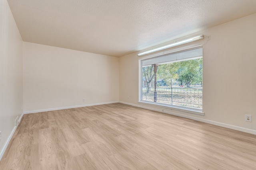
[[[202,47],[140,60],[140,101],[202,111]]]

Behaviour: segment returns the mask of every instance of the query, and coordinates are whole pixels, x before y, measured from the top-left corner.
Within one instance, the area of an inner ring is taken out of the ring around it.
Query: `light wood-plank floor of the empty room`
[[[26,114],[0,170],[256,170],[256,135],[124,104]]]

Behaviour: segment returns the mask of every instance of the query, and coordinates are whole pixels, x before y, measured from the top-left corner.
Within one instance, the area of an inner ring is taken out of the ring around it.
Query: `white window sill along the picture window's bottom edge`
[[[155,102],[146,102],[146,101],[138,101],[138,103],[146,104],[150,106],[162,106],[166,109],[176,110],[176,111],[182,111],[186,113],[192,113],[196,115],[202,115],[204,116],[204,112],[202,112],[202,109],[194,109],[194,108],[188,108],[188,107],[182,107],[182,106],[172,106],[168,104],[161,104],[161,103],[155,103]]]

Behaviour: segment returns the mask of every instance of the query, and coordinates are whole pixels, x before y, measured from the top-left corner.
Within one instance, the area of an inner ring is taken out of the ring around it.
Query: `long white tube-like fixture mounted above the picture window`
[[[175,42],[175,43],[172,43],[172,44],[169,44],[169,45],[165,45],[163,47],[158,47],[156,49],[152,49],[152,50],[145,51],[143,53],[139,53],[138,56],[153,53],[153,52],[160,51],[160,50],[163,50],[163,49],[168,49],[170,47],[175,47],[177,45],[186,44],[186,43],[196,41],[196,40],[199,40],[199,39],[203,39],[203,38],[204,38],[204,35],[198,35],[196,37],[192,37],[192,38],[189,38],[189,39],[184,39],[182,41],[178,41],[178,42]]]

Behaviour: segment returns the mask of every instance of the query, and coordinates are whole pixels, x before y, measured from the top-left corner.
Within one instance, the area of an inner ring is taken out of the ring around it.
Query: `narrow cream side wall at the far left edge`
[[[22,39],[7,0],[0,0],[0,158],[22,115]]]

